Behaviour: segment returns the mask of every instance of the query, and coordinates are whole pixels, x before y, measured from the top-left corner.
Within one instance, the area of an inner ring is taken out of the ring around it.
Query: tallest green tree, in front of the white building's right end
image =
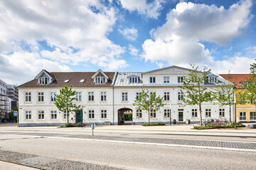
[[[192,70],[188,75],[183,78],[183,86],[181,92],[183,93],[183,102],[190,105],[198,105],[200,113],[200,125],[202,125],[202,107],[201,105],[204,102],[212,101],[211,92],[207,91],[205,85],[210,75],[210,69],[204,67],[203,70],[198,70],[198,67],[195,67],[191,64]]]

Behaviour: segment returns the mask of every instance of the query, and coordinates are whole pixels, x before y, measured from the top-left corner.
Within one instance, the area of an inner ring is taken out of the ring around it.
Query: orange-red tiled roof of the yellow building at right
[[[242,81],[245,81],[250,77],[250,74],[219,74],[224,79],[235,83],[235,87],[242,89],[242,85],[240,84]]]

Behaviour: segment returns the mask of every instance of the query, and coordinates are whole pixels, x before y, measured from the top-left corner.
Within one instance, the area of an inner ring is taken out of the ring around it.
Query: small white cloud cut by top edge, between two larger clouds
[[[147,3],[146,0],[119,0],[123,8],[126,8],[129,12],[137,11],[140,14],[144,14],[149,18],[158,18],[161,8],[165,3],[164,0],[154,0],[151,3]]]

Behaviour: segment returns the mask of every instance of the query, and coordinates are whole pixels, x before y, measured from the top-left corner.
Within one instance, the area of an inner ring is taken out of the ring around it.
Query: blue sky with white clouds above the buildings
[[[0,79],[48,72],[148,72],[176,65],[250,73],[252,0],[1,0]]]

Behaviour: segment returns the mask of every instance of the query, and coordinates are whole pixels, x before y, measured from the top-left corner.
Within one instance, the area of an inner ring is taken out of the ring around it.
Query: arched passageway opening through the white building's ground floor
[[[118,125],[132,125],[132,109],[120,108],[118,110]]]

